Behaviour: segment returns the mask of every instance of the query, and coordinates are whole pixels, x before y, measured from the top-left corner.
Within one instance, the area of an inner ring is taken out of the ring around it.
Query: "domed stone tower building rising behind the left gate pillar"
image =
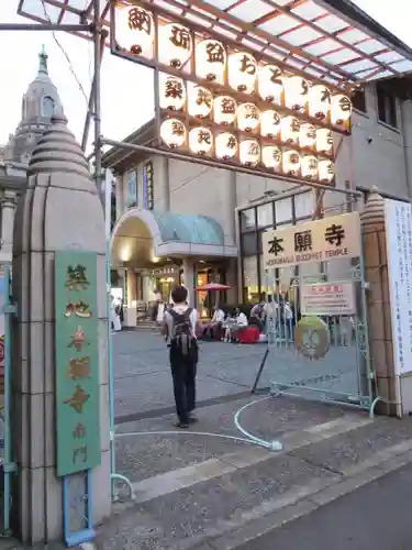
[[[32,152],[54,113],[63,113],[56,86],[47,67],[47,54],[38,54],[38,70],[22,98],[20,123],[8,143],[0,147],[0,264],[11,262],[16,199],[24,191]]]

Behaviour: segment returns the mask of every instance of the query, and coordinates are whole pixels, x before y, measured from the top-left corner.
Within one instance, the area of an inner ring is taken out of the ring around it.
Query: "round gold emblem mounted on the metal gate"
[[[319,317],[303,317],[297,324],[294,342],[303,356],[324,358],[331,343],[327,324]]]

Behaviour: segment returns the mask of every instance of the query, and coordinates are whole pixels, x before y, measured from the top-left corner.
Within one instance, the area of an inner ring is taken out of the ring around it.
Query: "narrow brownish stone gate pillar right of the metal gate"
[[[397,415],[400,404],[397,403],[393,365],[385,200],[376,187],[372,187],[360,215],[360,223],[364,231],[365,279],[369,284],[369,348],[377,377],[377,395],[382,398],[376,411]]]

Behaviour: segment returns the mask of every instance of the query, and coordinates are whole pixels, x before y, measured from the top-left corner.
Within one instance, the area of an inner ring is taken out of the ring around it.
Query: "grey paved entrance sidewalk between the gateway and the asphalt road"
[[[238,436],[233,415],[248,402],[199,410],[196,429]],[[193,430],[142,435],[169,431],[172,418],[119,427],[118,466],[133,482],[135,502],[123,493],[97,548],[234,549],[412,460],[412,420],[370,420],[319,403],[272,398],[244,411],[244,428],[279,438],[280,452]]]

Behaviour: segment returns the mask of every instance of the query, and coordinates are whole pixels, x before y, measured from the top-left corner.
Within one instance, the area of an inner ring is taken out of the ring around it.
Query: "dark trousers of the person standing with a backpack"
[[[189,422],[189,414],[196,407],[197,358],[182,355],[180,350],[170,348],[170,367],[174,381],[176,413],[183,424]]]

